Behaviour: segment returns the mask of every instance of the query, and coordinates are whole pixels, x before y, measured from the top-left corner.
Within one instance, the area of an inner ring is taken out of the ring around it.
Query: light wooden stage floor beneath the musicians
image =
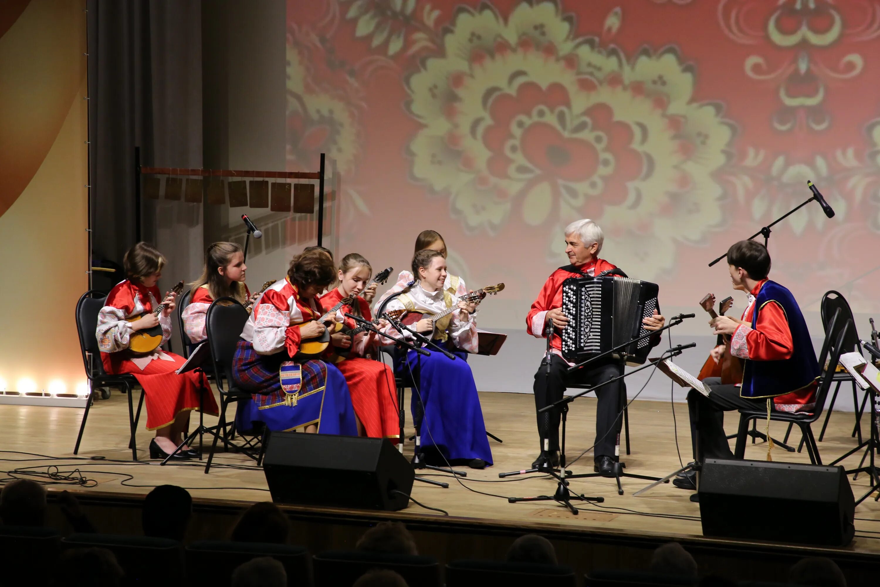
[[[446,519],[535,532],[600,532],[645,539],[701,539],[698,504],[689,501],[690,492],[674,488],[671,484],[656,487],[642,497],[634,497],[633,493],[647,485],[648,481],[625,479],[625,495],[617,495],[613,480],[593,478],[572,481],[572,487],[578,493],[605,497],[605,503],[602,504],[583,503],[578,516],[552,502],[508,503],[506,496],[546,495],[552,494],[555,488],[554,481],[546,477],[514,477],[511,479],[517,481],[507,482],[498,479],[498,473],[526,468],[536,455],[538,443],[532,395],[480,393],[480,401],[487,429],[503,440],[503,444],[490,441],[495,466],[484,471],[465,469],[467,478],[463,480],[463,484],[466,487],[444,478],[443,481],[450,481],[450,488],[436,488],[416,482],[413,489],[413,497],[419,502],[449,511],[451,518]],[[578,400],[569,413],[569,458],[592,444],[595,401],[591,398]],[[158,461],[146,460],[147,446],[152,434],[143,429],[143,418],[137,431],[139,458],[142,462],[130,462],[131,452],[126,449],[127,409],[126,396],[116,391],[110,400],[97,401],[92,407],[80,451],[80,457],[85,459],[73,460],[73,445],[82,410],[68,407],[0,406],[0,443],[4,450],[4,454],[0,456],[4,457],[4,471],[29,467],[26,470],[37,472],[45,471],[48,466],[57,466],[62,473],[72,473],[78,469],[85,477],[95,481],[92,488],[66,487],[71,491],[145,495],[156,485],[172,483],[189,489],[196,501],[203,498],[206,501],[253,503],[269,499],[263,473],[253,467],[253,461],[238,454],[219,452],[215,462],[221,466],[212,469],[208,475],[203,473],[203,466],[197,462],[162,467],[158,466]],[[691,442],[686,405],[675,404],[674,409],[678,420],[678,447],[681,459],[687,462]],[[216,422],[216,419],[206,418],[206,422],[210,424]],[[832,415],[825,442],[819,444],[825,462],[854,447],[855,440],[850,437],[853,422],[851,413]],[[863,418],[866,434],[867,422],[868,418]],[[736,415],[729,415],[728,430],[733,432],[736,425]],[[771,431],[777,438],[784,435],[784,427],[778,422],[774,422]],[[628,472],[659,477],[678,469],[670,402],[635,401],[630,407],[630,432],[632,454],[623,457]],[[816,435],[818,437],[818,429]],[[792,435],[794,436],[795,434]],[[796,444],[797,440],[792,438],[791,442]],[[412,455],[412,449],[413,444],[407,443],[404,451],[407,457]],[[59,460],[46,460],[45,457],[14,454],[10,451],[38,453]],[[764,459],[765,455],[766,444],[749,444],[746,458]],[[847,468],[858,466],[860,458],[861,453],[848,459]],[[122,462],[109,462],[109,459],[120,459]],[[778,447],[774,449],[774,460],[809,462],[806,451],[790,453]],[[574,466],[570,466],[570,469],[574,473],[592,472],[590,453]],[[6,479],[10,476],[22,475],[4,474]],[[432,476],[431,479],[441,478]],[[868,478],[865,475],[851,482],[856,497],[861,496],[868,488]],[[61,487],[52,487],[56,488]],[[467,488],[498,496],[480,495]],[[869,498],[856,508],[855,515],[857,538],[843,550],[852,554],[880,553],[880,504]],[[438,514],[423,510],[414,503],[393,517],[404,521],[407,518],[440,521]]]

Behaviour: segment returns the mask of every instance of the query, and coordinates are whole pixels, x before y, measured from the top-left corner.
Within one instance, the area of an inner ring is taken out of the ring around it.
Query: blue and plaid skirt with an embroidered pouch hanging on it
[[[282,389],[282,363],[294,366],[298,382]],[[240,340],[232,362],[232,379],[251,399],[238,402],[238,429],[264,422],[270,430],[304,429],[317,424],[321,434],[357,436],[355,408],[341,372],[323,361],[292,363],[287,353],[260,355]]]

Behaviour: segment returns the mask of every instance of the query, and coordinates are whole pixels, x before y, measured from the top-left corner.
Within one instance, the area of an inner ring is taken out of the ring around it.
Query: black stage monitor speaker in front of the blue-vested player
[[[706,459],[699,493],[704,536],[843,547],[855,532],[842,466]]]

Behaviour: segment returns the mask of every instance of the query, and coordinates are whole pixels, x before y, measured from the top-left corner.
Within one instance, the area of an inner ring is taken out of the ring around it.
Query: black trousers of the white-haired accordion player
[[[569,384],[599,385],[623,374],[623,365],[620,363],[605,363],[589,370],[578,371],[571,377],[568,376],[567,369],[568,363],[561,356],[554,355],[550,363],[550,376],[547,377],[545,365],[541,363],[538,372],[535,373],[535,409],[561,400]],[[622,408],[620,384],[621,381],[616,381],[603,385],[595,392],[598,407],[596,408],[596,446],[593,447],[593,454],[596,458],[602,455],[614,456],[614,446],[617,444],[617,434],[620,432],[620,422],[622,422],[622,416],[619,417]],[[550,441],[550,451],[559,451],[560,415],[558,408],[538,414],[541,450],[544,450],[544,438],[547,438]]]

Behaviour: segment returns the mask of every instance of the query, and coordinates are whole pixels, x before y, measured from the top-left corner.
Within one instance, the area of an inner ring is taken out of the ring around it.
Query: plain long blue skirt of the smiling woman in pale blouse
[[[418,392],[413,389],[410,409],[422,447],[434,447],[448,460],[483,459],[491,465],[492,451],[467,353],[458,349],[451,353],[457,357],[454,361],[434,350],[430,356],[409,350],[406,363],[396,365],[418,387]]]

